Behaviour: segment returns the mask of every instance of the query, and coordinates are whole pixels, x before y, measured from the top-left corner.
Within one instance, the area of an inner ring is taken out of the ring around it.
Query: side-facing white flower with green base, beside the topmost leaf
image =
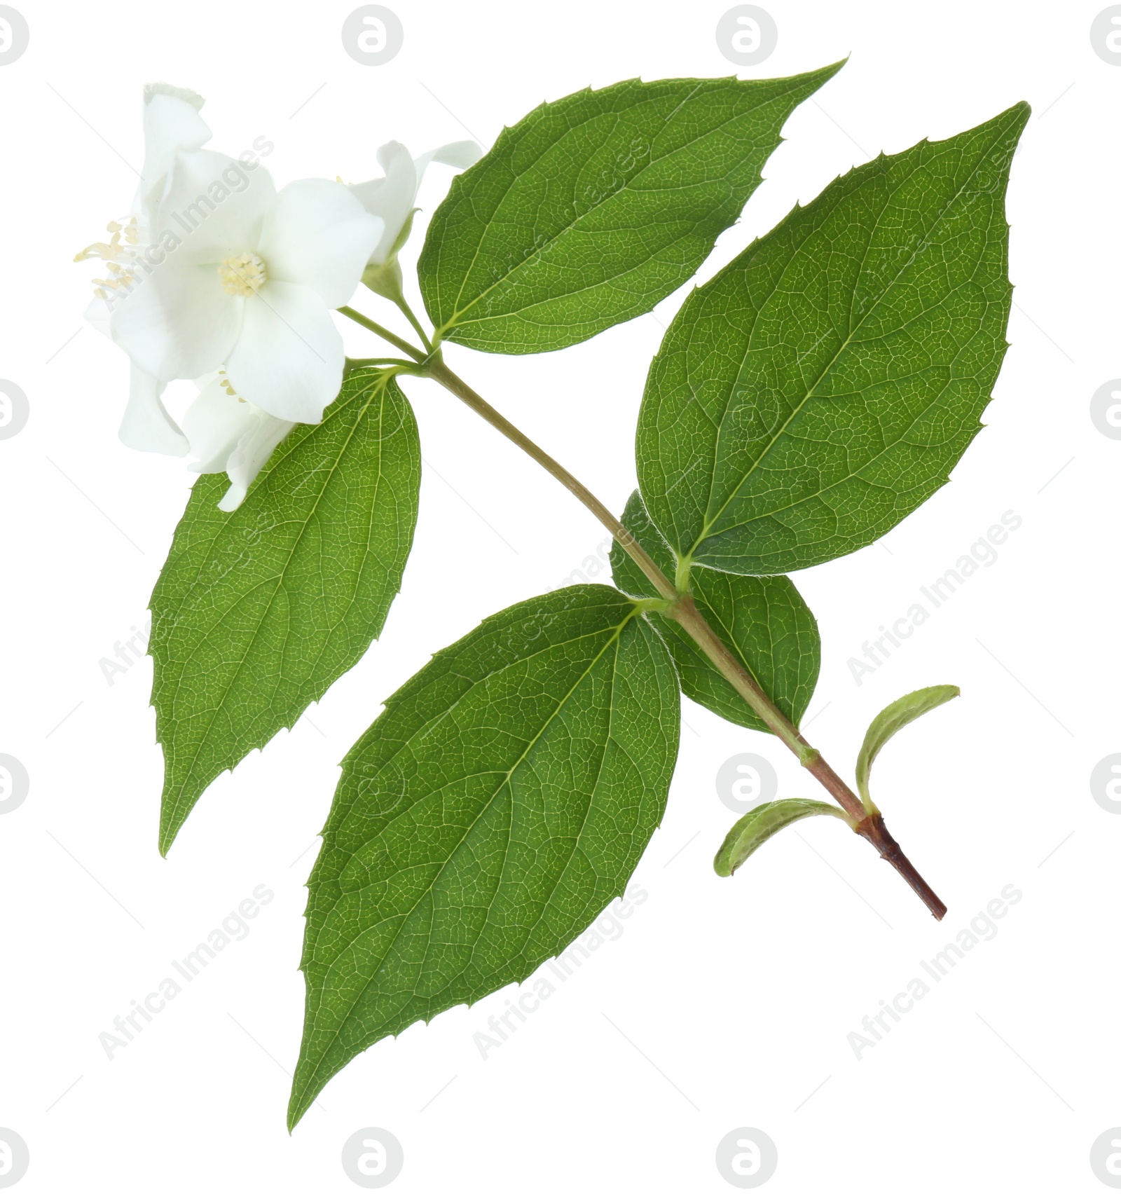
[[[350,187],[367,211],[384,221],[382,235],[370,253],[369,266],[362,276],[362,281],[371,290],[387,298],[400,296],[401,267],[398,265],[398,253],[412,230],[417,192],[429,165],[438,161],[466,170],[481,156],[482,149],[474,141],[454,141],[417,159],[398,141],[389,141],[377,150],[377,164],[386,172],[384,178],[357,183]]]

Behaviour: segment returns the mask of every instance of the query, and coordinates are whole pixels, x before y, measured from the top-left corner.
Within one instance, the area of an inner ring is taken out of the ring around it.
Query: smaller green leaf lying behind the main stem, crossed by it
[[[649,521],[638,491],[623,511],[623,525],[661,571],[672,577],[677,559]],[[611,546],[611,572],[623,592],[635,597],[659,596],[618,543]],[[689,579],[692,598],[704,620],[763,691],[797,725],[813,696],[821,661],[818,623],[801,593],[787,577],[738,577],[731,572],[694,568]],[[709,663],[680,623],[658,614],[649,617],[673,656],[685,696],[738,726],[768,731],[764,721]]]

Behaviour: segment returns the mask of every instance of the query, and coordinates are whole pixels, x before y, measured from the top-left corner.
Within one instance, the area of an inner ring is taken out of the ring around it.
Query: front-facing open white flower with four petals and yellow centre
[[[279,193],[209,149],[180,150],[154,207],[143,259],[118,288],[113,339],[158,382],[224,364],[239,396],[318,423],[343,382],[331,309],[355,291],[383,223],[338,183]]]

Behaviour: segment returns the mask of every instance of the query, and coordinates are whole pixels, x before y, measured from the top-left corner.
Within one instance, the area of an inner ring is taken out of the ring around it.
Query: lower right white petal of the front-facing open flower
[[[278,419],[319,423],[343,386],[343,337],[322,298],[294,282],[266,282],[246,300],[226,376]]]

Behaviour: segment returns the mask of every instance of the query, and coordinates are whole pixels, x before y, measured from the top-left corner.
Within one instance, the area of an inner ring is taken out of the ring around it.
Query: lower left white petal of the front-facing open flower
[[[198,377],[226,359],[241,328],[245,300],[227,294],[214,265],[156,265],[118,298],[112,337],[160,381]]]

